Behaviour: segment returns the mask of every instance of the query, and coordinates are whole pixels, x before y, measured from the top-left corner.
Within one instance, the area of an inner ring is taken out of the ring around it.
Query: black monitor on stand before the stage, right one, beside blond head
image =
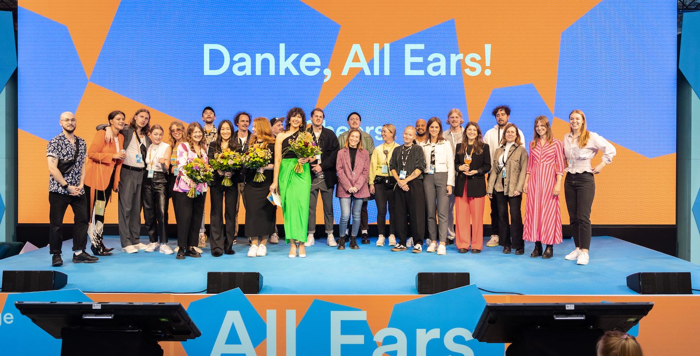
[[[653,303],[486,304],[473,336],[511,343],[505,355],[596,355],[608,330],[628,332]]]

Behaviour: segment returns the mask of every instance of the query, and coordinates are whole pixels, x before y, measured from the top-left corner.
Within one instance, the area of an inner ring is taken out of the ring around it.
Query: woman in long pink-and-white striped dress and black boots
[[[552,138],[547,117],[538,116],[525,176],[527,201],[523,239],[535,243],[530,257],[552,258],[554,244],[561,243],[559,191],[564,168],[563,145]],[[544,253],[542,243],[547,245]]]

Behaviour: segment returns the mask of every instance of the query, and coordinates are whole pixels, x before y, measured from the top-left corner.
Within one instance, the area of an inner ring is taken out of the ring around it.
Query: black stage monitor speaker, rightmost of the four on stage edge
[[[627,287],[640,294],[692,294],[690,272],[639,272],[627,276]]]

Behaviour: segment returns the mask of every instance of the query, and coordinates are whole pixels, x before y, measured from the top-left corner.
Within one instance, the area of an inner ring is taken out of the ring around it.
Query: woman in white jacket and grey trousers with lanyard
[[[449,213],[449,196],[454,187],[454,150],[449,141],[442,136],[442,123],[438,118],[428,120],[428,139],[421,142],[426,157],[426,169],[423,170],[423,191],[426,194],[426,214],[428,252],[444,255],[447,242],[447,214]],[[437,213],[437,223],[435,221]],[[437,241],[440,245],[437,245]]]

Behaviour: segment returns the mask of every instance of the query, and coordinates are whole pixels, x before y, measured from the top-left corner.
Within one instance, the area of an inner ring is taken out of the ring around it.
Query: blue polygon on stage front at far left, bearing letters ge
[[[46,256],[46,260],[48,261],[48,256]],[[92,299],[88,298],[80,290],[50,290],[47,292],[9,294],[1,314],[11,314],[13,322],[8,323],[3,320],[0,325],[2,339],[10,341],[3,343],[3,355],[28,355],[28,350],[31,350],[31,355],[61,354],[61,340],[54,339],[53,336],[34,324],[31,319],[22,315],[15,308],[15,301],[92,301]],[[30,348],[27,347],[28,343],[31,344]]]

